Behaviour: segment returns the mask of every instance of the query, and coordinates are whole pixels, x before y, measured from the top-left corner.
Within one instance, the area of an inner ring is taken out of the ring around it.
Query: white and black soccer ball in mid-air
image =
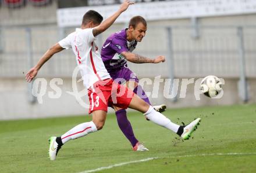
[[[216,76],[206,76],[202,79],[200,90],[207,97],[216,97],[222,91],[223,84]]]

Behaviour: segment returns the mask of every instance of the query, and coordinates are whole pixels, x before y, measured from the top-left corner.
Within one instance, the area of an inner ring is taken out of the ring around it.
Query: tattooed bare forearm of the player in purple
[[[131,53],[130,51],[124,51],[121,53],[122,56],[126,58],[127,61],[142,64],[142,63],[159,63],[159,62],[165,62],[165,56],[158,56],[157,58],[147,58],[144,56],[140,56],[135,53]]]

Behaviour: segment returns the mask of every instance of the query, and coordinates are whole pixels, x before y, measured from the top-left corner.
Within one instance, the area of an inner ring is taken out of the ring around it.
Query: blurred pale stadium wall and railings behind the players
[[[72,91],[72,73],[76,61],[70,50],[54,56],[38,74],[48,82],[47,92],[38,104],[31,95],[31,84],[24,80],[32,65],[65,35],[79,27],[87,9],[97,9],[104,18],[118,8],[115,0],[2,0],[0,1],[0,119],[81,115],[87,113]],[[163,64],[131,64],[138,78],[191,79],[216,75],[225,79],[221,99],[196,100],[189,84],[185,98],[163,97],[164,82],[159,85],[152,104],[168,108],[202,105],[233,105],[256,102],[256,2],[254,0],[177,0],[136,1],[109,30],[106,37],[127,27],[131,16],[148,21],[148,31],[136,53],[148,57],[165,55]],[[52,78],[62,78],[62,95],[48,98]],[[181,80],[179,82],[180,90]],[[144,84],[152,91],[152,84]],[[80,83],[80,87],[81,83]],[[84,97],[87,101],[87,97]]]

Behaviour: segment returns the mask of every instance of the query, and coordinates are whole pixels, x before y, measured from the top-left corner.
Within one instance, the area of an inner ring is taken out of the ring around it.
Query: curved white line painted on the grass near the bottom
[[[102,170],[108,170],[113,167],[121,167],[122,165],[127,165],[131,163],[138,163],[138,162],[144,162],[144,161],[149,161],[153,159],[166,159],[166,158],[180,158],[180,157],[198,157],[198,156],[232,156],[232,155],[254,155],[256,153],[209,153],[209,154],[194,154],[194,155],[184,155],[184,156],[170,156],[170,157],[150,157],[147,159],[142,159],[142,160],[134,160],[134,161],[128,161],[128,162],[123,162],[123,163],[118,163],[118,164],[113,164],[109,165],[108,167],[99,167],[96,168],[95,170],[86,170],[83,172],[79,173],[89,173],[89,172],[97,172],[97,171],[102,171]]]

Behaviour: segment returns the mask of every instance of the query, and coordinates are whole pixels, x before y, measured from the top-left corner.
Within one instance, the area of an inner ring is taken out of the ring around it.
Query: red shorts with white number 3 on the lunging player
[[[93,111],[108,111],[108,106],[118,106],[126,109],[133,98],[133,91],[112,79],[99,80],[88,89],[90,101],[89,114]]]

